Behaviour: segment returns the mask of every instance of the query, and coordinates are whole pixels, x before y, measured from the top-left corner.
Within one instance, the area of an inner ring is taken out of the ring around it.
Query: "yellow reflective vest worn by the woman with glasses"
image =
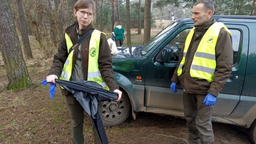
[[[100,84],[103,89],[109,90],[107,84],[103,80],[103,77],[100,74],[100,70],[98,67],[98,57],[99,57],[99,44],[100,44],[100,35],[101,31],[94,29],[91,39],[90,39],[90,45],[89,45],[89,61],[88,62],[88,77],[87,81],[94,81]],[[104,34],[104,33],[102,33]],[[106,34],[105,34],[106,35]],[[66,43],[68,47],[68,52],[71,46],[73,46],[73,43],[71,42],[70,37],[67,33],[65,33]],[[73,52],[71,51],[68,55],[68,58],[63,66],[62,73],[60,76],[60,79],[69,81],[72,73],[72,62],[73,62]],[[63,89],[63,87],[61,87]]]

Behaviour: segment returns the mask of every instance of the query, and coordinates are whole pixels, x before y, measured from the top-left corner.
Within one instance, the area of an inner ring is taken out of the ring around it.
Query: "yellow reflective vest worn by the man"
[[[203,38],[201,39],[201,42],[197,47],[192,65],[190,67],[191,77],[206,79],[208,82],[213,82],[215,68],[216,68],[215,46],[217,44],[217,39],[218,39],[221,28],[226,29],[231,35],[231,32],[228,30],[228,28],[221,22],[215,22],[206,31]],[[189,32],[186,38],[185,47],[184,47],[185,54],[183,53],[183,58],[178,67],[178,76],[180,76],[182,73],[182,67],[185,64],[186,53],[188,51],[191,39],[193,38],[193,35],[194,35],[194,29],[195,27],[191,29],[191,31]],[[205,49],[205,47],[207,47],[207,49]]]

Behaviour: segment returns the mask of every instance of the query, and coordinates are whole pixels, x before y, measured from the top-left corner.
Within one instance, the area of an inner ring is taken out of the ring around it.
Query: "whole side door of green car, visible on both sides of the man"
[[[233,37],[234,49],[234,65],[233,70],[227,83],[223,87],[221,94],[219,94],[217,102],[214,106],[213,115],[227,116],[235,108],[241,95],[243,81],[246,69],[246,59],[244,55],[248,49],[248,29],[245,26],[226,25]],[[169,47],[173,49],[180,49],[186,39],[188,31],[193,25],[185,25],[183,29],[177,31],[177,35],[173,38],[166,38],[166,42],[161,45],[161,49]],[[159,51],[158,51],[159,53]],[[172,58],[170,63],[157,62],[156,55],[151,56],[147,65],[147,72],[145,78],[145,106],[183,111],[182,93],[180,85],[177,85],[177,93],[170,91],[171,78],[175,68],[177,67],[178,59]],[[172,57],[176,55],[172,54]],[[247,54],[246,54],[247,55]]]

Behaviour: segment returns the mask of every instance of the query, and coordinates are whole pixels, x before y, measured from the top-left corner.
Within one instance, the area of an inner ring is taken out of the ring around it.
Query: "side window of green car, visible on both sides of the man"
[[[182,46],[185,44],[186,37],[191,29],[185,29],[181,31],[175,38],[172,39],[165,47],[171,49],[171,62],[179,61],[179,52]],[[232,36],[233,44],[233,66],[238,61],[239,45],[241,44],[241,31],[237,29],[229,29]]]

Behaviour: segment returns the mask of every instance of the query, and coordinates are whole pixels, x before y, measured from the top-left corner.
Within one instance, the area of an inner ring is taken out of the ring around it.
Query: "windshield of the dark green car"
[[[142,55],[145,55],[147,52],[149,52],[157,43],[163,41],[166,35],[168,35],[171,30],[177,26],[177,22],[172,22],[169,26],[167,26],[165,29],[163,29],[160,33],[158,33],[155,37],[150,39],[150,41],[147,42],[145,46],[143,46],[143,50],[141,51]]]

